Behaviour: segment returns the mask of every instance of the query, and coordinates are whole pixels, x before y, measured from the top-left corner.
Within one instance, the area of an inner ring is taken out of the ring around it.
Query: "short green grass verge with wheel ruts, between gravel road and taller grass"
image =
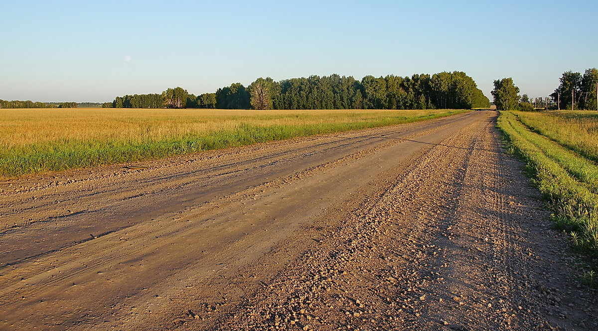
[[[598,164],[572,151],[572,145],[560,145],[530,129],[520,119],[525,115],[503,111],[498,127],[511,151],[527,161],[535,184],[553,208],[556,226],[570,235],[575,250],[588,256],[590,270],[584,281],[598,287]],[[540,115],[551,121],[550,115]]]

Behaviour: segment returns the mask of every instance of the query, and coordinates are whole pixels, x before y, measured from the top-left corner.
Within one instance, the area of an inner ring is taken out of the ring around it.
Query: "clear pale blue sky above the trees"
[[[270,76],[465,71],[546,96],[598,66],[598,1],[4,1],[0,99],[108,102]],[[129,56],[130,58],[127,58]],[[127,59],[129,59],[127,61]],[[492,98],[490,98],[492,99]]]

